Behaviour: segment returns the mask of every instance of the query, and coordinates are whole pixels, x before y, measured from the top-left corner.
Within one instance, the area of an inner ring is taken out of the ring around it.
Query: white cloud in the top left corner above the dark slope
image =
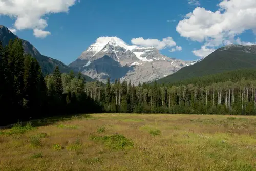
[[[14,17],[17,30],[36,29],[34,35],[47,36],[49,31],[43,30],[48,26],[44,17],[47,14],[68,12],[75,2],[76,0],[0,0],[0,14]]]

